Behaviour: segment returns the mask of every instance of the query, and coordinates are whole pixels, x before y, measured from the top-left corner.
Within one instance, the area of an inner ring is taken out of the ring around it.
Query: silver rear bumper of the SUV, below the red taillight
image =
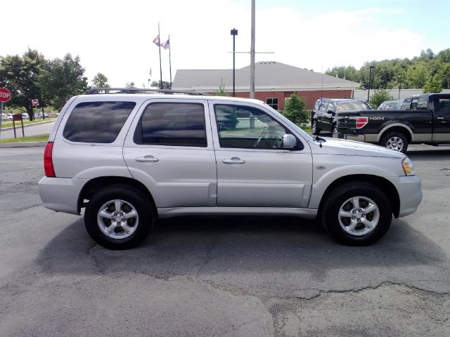
[[[42,204],[57,212],[79,214],[78,197],[89,179],[49,178],[39,181],[37,189]]]

